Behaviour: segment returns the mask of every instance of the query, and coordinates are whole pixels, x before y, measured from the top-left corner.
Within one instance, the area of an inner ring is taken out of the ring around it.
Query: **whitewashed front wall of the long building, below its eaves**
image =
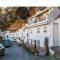
[[[52,39],[52,29],[51,29],[51,24],[46,25],[47,26],[47,32],[44,32],[44,25],[39,26],[40,28],[40,33],[37,33],[37,29],[38,27],[33,27],[33,28],[29,28],[26,29],[25,32],[25,38],[29,39],[29,42],[31,43],[31,39],[32,42],[34,44],[34,41],[36,40],[40,40],[40,46],[44,47],[44,39],[45,37],[48,37],[49,39],[49,47],[53,46],[53,39]],[[32,33],[30,32],[30,29],[32,29]],[[27,37],[27,33],[29,33],[29,37]]]

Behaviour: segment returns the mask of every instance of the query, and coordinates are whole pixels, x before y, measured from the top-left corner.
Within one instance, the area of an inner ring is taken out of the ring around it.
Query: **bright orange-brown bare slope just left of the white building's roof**
[[[16,31],[22,28],[25,24],[25,21],[16,19],[16,21],[9,26],[8,30],[10,30],[11,32]]]

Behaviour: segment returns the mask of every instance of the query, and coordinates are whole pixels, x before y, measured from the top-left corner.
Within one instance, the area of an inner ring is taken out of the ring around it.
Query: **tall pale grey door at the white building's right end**
[[[53,23],[53,45],[58,46],[58,23]]]

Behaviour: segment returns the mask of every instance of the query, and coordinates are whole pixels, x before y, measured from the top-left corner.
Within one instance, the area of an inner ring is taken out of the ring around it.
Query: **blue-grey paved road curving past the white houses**
[[[55,60],[51,57],[35,56],[27,52],[24,48],[13,46],[6,48],[4,56],[0,57],[0,60]]]

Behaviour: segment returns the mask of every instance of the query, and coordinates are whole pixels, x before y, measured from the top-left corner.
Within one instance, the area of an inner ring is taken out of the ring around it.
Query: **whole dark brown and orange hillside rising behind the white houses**
[[[15,31],[16,29],[22,27],[29,17],[34,15],[37,11],[42,11],[45,8],[46,7],[0,8],[0,29],[9,29]]]

